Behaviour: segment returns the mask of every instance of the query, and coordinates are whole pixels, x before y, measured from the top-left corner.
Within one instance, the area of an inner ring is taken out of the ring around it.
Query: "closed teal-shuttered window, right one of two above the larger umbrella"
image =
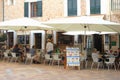
[[[90,0],[90,13],[100,14],[100,0]]]

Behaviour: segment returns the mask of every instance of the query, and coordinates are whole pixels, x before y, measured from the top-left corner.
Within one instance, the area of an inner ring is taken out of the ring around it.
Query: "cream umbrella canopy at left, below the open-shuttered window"
[[[19,19],[13,19],[8,20],[4,22],[0,22],[0,29],[8,29],[8,30],[16,30],[16,31],[22,31],[22,30],[47,30],[47,29],[53,29],[53,27],[43,25],[37,20],[31,19],[31,18],[19,18]]]

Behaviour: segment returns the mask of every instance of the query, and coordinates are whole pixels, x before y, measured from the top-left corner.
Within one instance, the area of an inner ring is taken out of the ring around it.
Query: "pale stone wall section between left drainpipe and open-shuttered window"
[[[14,0],[15,4],[9,5],[5,0],[5,20],[24,17],[24,0]]]

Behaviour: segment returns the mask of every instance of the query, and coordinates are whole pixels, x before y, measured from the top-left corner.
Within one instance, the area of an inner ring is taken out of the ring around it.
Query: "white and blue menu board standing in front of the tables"
[[[66,48],[67,66],[80,66],[79,48]]]

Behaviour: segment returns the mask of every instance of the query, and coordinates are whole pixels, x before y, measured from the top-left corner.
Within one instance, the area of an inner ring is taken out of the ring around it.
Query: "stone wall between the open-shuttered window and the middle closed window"
[[[51,19],[64,16],[64,0],[43,0],[43,18]]]

